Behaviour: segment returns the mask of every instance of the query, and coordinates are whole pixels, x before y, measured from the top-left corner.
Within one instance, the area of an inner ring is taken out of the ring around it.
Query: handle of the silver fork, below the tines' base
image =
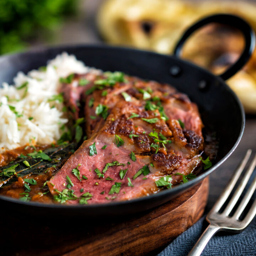
[[[188,256],[200,256],[210,239],[220,230],[218,226],[209,225],[200,236]]]

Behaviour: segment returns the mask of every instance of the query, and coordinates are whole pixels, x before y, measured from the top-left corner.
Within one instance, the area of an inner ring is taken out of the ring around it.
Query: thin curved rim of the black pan
[[[198,70],[201,70],[204,73],[207,73],[208,75],[212,76],[214,79],[217,79],[222,86],[224,86],[224,88],[233,96],[234,100],[236,101],[236,103],[238,104],[239,107],[239,115],[241,116],[241,127],[240,127],[240,132],[239,132],[239,136],[235,142],[235,144],[232,146],[232,148],[229,150],[229,152],[222,158],[220,159],[217,163],[215,163],[212,167],[210,167],[210,169],[208,169],[207,171],[203,172],[202,174],[200,174],[199,176],[197,176],[195,179],[190,180],[187,183],[183,183],[180,184],[174,188],[172,188],[171,190],[162,190],[159,191],[158,193],[153,193],[150,194],[148,196],[144,196],[144,197],[139,197],[139,198],[134,198],[131,200],[127,200],[127,201],[119,201],[119,202],[111,202],[111,203],[101,203],[101,204],[87,204],[87,205],[64,205],[64,204],[45,204],[45,203],[39,203],[39,202],[22,202],[19,201],[17,198],[11,198],[11,197],[7,197],[7,196],[2,196],[0,195],[0,201],[7,201],[10,203],[16,203],[18,205],[23,205],[23,206],[33,206],[33,207],[37,207],[37,208],[50,208],[50,209],[79,209],[79,210],[97,210],[97,209],[102,209],[105,207],[108,208],[116,208],[117,206],[123,206],[126,205],[128,206],[129,204],[134,204],[134,203],[140,203],[141,201],[151,201],[151,199],[158,199],[162,196],[165,196],[167,194],[170,193],[170,191],[172,191],[171,193],[174,194],[179,194],[179,192],[181,191],[186,191],[188,188],[193,187],[194,185],[196,185],[197,183],[199,183],[200,181],[202,181],[204,178],[206,178],[210,173],[212,173],[214,170],[216,170],[220,165],[223,164],[224,161],[226,161],[226,159],[229,158],[229,156],[234,152],[234,150],[236,149],[236,147],[238,146],[242,135],[244,133],[244,128],[245,128],[245,112],[244,112],[244,108],[242,106],[241,101],[239,100],[238,96],[234,93],[233,90],[231,90],[231,88],[225,83],[225,81],[223,79],[221,79],[218,76],[215,76],[214,74],[212,74],[211,72],[209,72],[208,70],[201,68],[191,62],[188,62],[186,60],[180,59],[178,57],[176,57],[175,55],[165,55],[165,54],[160,54],[160,53],[155,53],[155,52],[151,52],[148,50],[140,50],[140,49],[134,49],[134,48],[129,48],[129,47],[120,47],[120,46],[108,46],[106,44],[63,44],[60,46],[49,46],[49,47],[34,47],[31,50],[25,51],[25,52],[21,52],[21,53],[14,53],[14,54],[5,54],[2,55],[0,57],[0,64],[1,62],[4,62],[6,59],[11,58],[11,57],[17,57],[18,55],[23,55],[23,54],[36,54],[38,52],[47,52],[50,50],[54,50],[54,49],[58,49],[61,51],[68,51],[69,49],[73,49],[73,48],[98,48],[98,49],[117,49],[117,50],[124,50],[124,51],[134,51],[134,52],[143,52],[143,53],[149,53],[149,54],[154,54],[154,55],[160,55],[160,56],[164,56],[164,57],[168,57],[170,59],[176,59],[178,61],[181,62],[185,62],[187,65],[193,66],[193,68],[197,68]],[[139,210],[138,210],[139,212]]]

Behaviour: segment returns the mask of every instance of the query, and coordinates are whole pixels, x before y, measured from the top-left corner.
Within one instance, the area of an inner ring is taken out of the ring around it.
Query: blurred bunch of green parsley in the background
[[[38,36],[49,39],[78,0],[0,0],[0,54],[21,50]]]

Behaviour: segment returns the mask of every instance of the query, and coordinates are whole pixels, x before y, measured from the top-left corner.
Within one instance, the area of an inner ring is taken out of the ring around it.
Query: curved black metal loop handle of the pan
[[[254,52],[254,48],[255,48],[254,30],[245,20],[243,20],[238,16],[230,15],[230,14],[217,14],[217,15],[208,16],[194,23],[194,25],[192,25],[187,29],[187,31],[185,31],[180,41],[178,41],[174,50],[174,55],[178,57],[180,56],[182,52],[183,44],[185,43],[187,38],[191,36],[191,34],[194,31],[212,22],[216,22],[224,25],[230,25],[235,28],[238,28],[242,32],[245,38],[245,48],[242,54],[240,55],[239,59],[233,65],[231,65],[223,74],[219,75],[220,78],[222,78],[223,80],[227,80],[247,63],[252,53]]]

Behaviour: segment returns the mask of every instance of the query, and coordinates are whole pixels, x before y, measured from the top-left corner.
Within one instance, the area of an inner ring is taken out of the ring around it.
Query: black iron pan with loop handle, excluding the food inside
[[[178,58],[183,43],[191,33],[210,22],[235,26],[245,37],[245,49],[241,57],[220,76],[215,76],[207,70]],[[12,83],[12,79],[18,71],[27,73],[32,69],[37,69],[39,66],[46,65],[47,60],[66,51],[69,54],[74,54],[78,60],[82,60],[88,66],[102,70],[119,70],[140,78],[169,83],[179,91],[185,92],[191,101],[197,103],[204,125],[216,131],[219,142],[219,150],[213,166],[194,180],[178,185],[171,190],[164,190],[125,202],[86,206],[21,202],[17,199],[0,196],[2,212],[9,209],[13,213],[23,212],[30,216],[120,216],[158,206],[196,185],[230,156],[241,139],[245,125],[244,110],[238,97],[225,84],[224,80],[242,68],[251,56],[254,47],[254,31],[244,20],[232,15],[214,15],[197,22],[185,32],[175,49],[176,56],[119,47],[82,45],[32,50],[0,57],[0,82]]]

